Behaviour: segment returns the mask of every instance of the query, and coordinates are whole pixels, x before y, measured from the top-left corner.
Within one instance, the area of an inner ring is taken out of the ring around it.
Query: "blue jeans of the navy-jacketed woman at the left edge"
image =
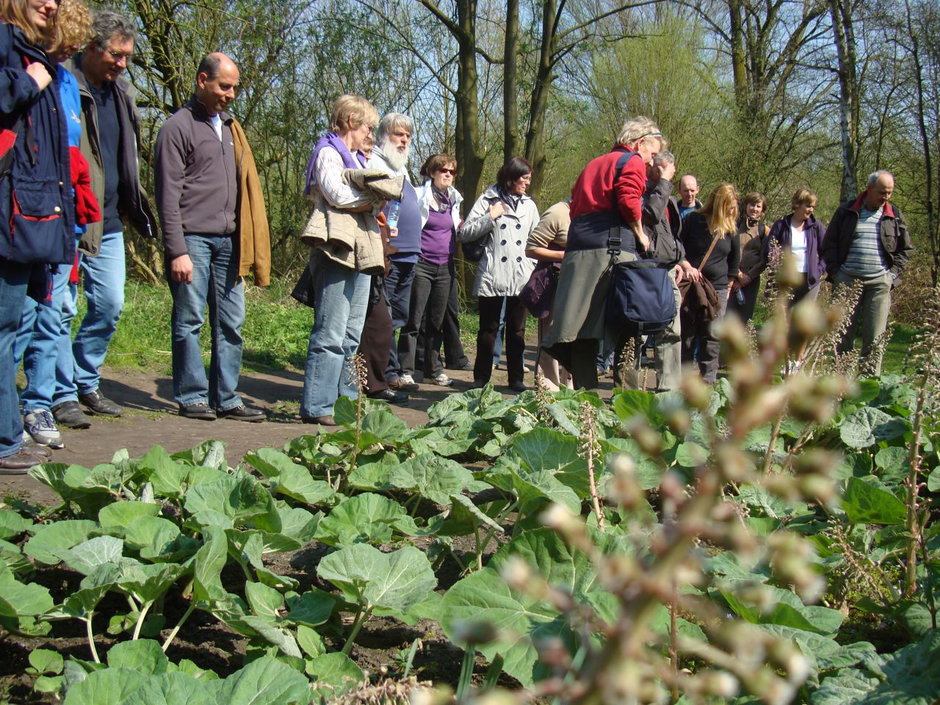
[[[23,417],[16,393],[13,346],[23,315],[26,286],[32,265],[0,259],[0,458],[16,453],[23,444]]]

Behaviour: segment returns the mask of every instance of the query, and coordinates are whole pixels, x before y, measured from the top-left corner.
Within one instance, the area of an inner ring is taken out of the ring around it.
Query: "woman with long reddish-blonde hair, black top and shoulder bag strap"
[[[689,363],[698,351],[702,378],[709,384],[718,377],[720,345],[712,324],[725,313],[730,285],[737,279],[741,245],[738,236],[738,192],[731,184],[721,184],[712,191],[705,205],[689,213],[682,221],[685,259],[681,262],[684,278],[692,283],[707,281],[717,295],[714,318],[703,315],[704,307],[689,305],[690,291],[679,315],[682,329],[682,362]],[[698,290],[698,289],[696,289]]]

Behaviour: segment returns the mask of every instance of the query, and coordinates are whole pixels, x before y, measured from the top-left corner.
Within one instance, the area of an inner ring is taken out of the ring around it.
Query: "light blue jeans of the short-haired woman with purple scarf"
[[[347,269],[317,251],[310,257],[317,283],[300,402],[303,417],[328,416],[340,394],[352,399],[358,395],[349,366],[359,348],[369,304],[368,274]]]

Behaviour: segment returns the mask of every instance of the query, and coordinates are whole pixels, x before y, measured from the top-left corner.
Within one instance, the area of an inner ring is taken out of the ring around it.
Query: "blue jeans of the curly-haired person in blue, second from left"
[[[71,299],[71,271],[70,266],[59,265],[58,273],[52,276],[50,302],[40,304],[26,297],[23,304],[13,357],[16,365],[23,363],[23,372],[26,374],[26,389],[20,394],[20,407],[24,412],[31,409],[52,409],[60,369],[59,357],[63,351],[67,362],[63,361],[61,367],[72,369],[72,316],[69,317],[68,323],[63,324],[62,320],[63,308],[68,305],[66,299]]]

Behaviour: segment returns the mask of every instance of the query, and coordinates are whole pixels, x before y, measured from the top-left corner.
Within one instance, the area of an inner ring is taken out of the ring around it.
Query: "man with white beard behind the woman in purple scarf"
[[[392,340],[389,348],[388,365],[385,369],[385,381],[391,389],[369,390],[369,396],[387,401],[394,399],[393,390],[414,390],[418,388],[410,374],[402,374],[398,362],[396,334],[408,322],[408,310],[411,303],[411,284],[414,281],[418,253],[421,251],[421,210],[418,196],[408,175],[408,157],[410,156],[411,138],[414,123],[411,118],[401,113],[389,113],[379,122],[375,134],[375,148],[367,167],[381,169],[391,176],[404,176],[405,187],[401,203],[389,203],[385,215],[391,230],[390,267],[385,276],[385,298],[392,316]],[[376,341],[378,342],[378,341]],[[366,350],[365,341],[360,349]]]

